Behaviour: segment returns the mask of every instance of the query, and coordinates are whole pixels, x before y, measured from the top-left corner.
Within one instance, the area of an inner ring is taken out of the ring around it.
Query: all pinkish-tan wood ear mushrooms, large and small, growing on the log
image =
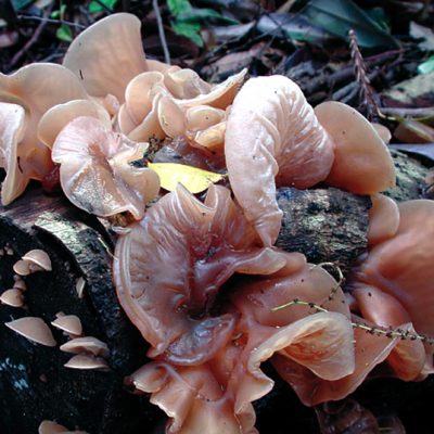
[[[286,77],[245,77],[209,85],[146,59],[130,14],[86,29],[63,65],[0,75],[2,204],[58,165],[74,205],[135,220],[118,231],[114,277],[154,361],[128,381],[166,411],[169,433],[256,432],[252,401],[273,384],[260,371],[267,359],[306,405],[347,396],[383,361],[406,381],[434,371],[433,202],[398,205],[380,194],[395,184],[390,137],[354,108],[314,110]],[[204,201],[188,186],[164,192],[148,166],[155,146],[227,171],[230,190],[210,184]],[[373,204],[369,252],[346,294],[320,266],[273,246],[277,189],[319,182]],[[14,270],[48,270],[42,263],[25,255]],[[2,303],[20,305],[22,290]],[[25,334],[29,320],[7,326]],[[76,337],[77,320],[52,322],[74,337],[61,347],[77,354],[66,366],[107,368],[108,348]],[[30,339],[55,345],[43,326]],[[62,432],[47,431],[52,423],[40,432]]]

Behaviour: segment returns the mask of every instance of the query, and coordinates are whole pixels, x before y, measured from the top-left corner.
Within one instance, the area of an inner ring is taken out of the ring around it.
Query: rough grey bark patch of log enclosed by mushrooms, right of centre
[[[283,212],[277,246],[301,252],[314,264],[334,263],[343,272],[367,248],[368,196],[339,189],[278,190]]]

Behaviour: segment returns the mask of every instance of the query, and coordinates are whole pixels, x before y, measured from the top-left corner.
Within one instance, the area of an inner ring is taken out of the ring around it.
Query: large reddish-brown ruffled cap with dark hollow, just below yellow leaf
[[[152,357],[197,365],[227,344],[235,317],[210,310],[220,286],[234,272],[269,275],[284,265],[282,254],[255,241],[230,192],[213,186],[204,204],[178,187],[119,239],[117,295]]]

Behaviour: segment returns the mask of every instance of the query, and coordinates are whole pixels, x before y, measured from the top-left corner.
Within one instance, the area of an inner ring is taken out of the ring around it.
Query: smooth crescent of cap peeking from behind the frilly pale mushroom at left
[[[53,148],[59,132],[72,120],[80,116],[94,117],[100,119],[105,128],[112,127],[110,114],[103,106],[89,100],[74,100],[54,105],[43,114],[38,124],[39,140],[48,148]]]

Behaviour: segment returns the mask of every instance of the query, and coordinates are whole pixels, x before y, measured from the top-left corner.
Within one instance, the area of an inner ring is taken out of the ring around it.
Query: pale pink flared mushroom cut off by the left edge
[[[60,65],[36,63],[10,76],[0,74],[0,101],[18,104],[26,113],[25,125],[15,120],[20,125],[17,132],[13,139],[9,136],[8,141],[2,140],[1,143],[3,155],[9,158],[7,171],[10,170],[14,179],[13,182],[5,181],[3,203],[10,203],[24,191],[30,179],[41,180],[53,167],[50,150],[40,143],[36,135],[41,116],[53,105],[87,98],[79,80]],[[7,151],[5,145],[14,149]]]

